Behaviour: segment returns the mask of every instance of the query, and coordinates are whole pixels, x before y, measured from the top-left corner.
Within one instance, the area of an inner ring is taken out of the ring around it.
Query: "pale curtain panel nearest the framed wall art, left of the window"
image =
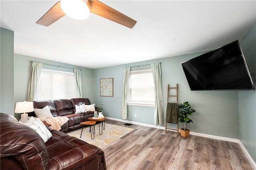
[[[126,93],[129,85],[129,79],[130,79],[130,67],[125,67],[124,68],[124,73],[123,73],[123,93],[122,93],[122,108],[121,108],[121,113],[122,113],[122,119],[126,120],[127,119],[127,103],[126,103]]]

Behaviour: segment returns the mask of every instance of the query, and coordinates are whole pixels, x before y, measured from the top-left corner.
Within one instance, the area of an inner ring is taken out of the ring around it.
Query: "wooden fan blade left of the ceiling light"
[[[42,16],[36,24],[40,24],[42,26],[50,26],[52,23],[62,18],[66,14],[62,11],[60,7],[60,1],[57,2],[44,16]]]

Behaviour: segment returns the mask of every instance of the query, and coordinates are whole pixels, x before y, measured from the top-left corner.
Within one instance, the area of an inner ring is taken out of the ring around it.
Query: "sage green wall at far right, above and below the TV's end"
[[[256,84],[256,24],[240,43],[244,57]],[[256,90],[239,91],[239,140],[256,162]]]

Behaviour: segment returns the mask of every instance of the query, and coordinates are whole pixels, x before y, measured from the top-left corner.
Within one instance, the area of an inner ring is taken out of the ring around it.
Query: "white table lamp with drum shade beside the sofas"
[[[26,123],[28,121],[28,112],[34,111],[33,102],[17,102],[14,113],[23,113],[20,115],[20,121]]]

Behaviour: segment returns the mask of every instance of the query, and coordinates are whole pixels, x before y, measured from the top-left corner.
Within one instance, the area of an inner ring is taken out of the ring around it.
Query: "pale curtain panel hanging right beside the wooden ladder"
[[[153,79],[155,85],[155,111],[154,111],[154,124],[162,126],[164,117],[163,106],[163,93],[161,83],[161,65],[160,63],[151,64]]]

